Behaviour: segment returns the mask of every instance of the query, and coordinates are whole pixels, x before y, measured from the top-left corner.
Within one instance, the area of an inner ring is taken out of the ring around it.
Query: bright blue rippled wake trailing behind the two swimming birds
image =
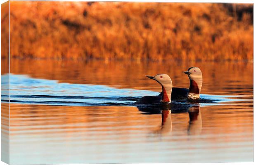
[[[57,80],[30,78],[27,75],[2,75],[1,101],[17,104],[47,104],[56,106],[134,106],[145,95],[158,92],[135,89],[117,89],[106,85],[59,83]],[[10,98],[4,87],[10,82]],[[202,94],[199,100],[178,100],[184,104],[216,104],[227,101],[225,96]],[[176,103],[177,104],[177,101]],[[143,106],[143,105],[141,105]],[[151,105],[152,106],[152,105]]]

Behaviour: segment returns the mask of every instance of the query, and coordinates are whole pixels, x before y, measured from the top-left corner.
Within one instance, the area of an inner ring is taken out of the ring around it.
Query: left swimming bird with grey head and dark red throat
[[[157,104],[161,102],[171,102],[171,92],[173,88],[171,78],[167,74],[146,76],[152,80],[156,80],[162,86],[162,94],[158,96],[144,96],[136,101],[135,104]]]

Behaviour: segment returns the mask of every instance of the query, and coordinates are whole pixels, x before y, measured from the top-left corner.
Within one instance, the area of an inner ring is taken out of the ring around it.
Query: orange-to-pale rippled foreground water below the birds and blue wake
[[[12,163],[101,162],[94,154],[106,156],[102,162],[108,163],[145,162],[145,156],[159,153],[153,162],[252,160],[252,108],[203,106],[189,113],[165,112],[147,115],[136,107],[11,104],[10,153],[18,157]],[[107,152],[103,146],[109,148]],[[45,148],[49,153],[40,159]],[[140,156],[130,158],[134,150]],[[225,155],[219,154],[224,151]],[[191,155],[165,156],[180,152]],[[194,157],[197,152],[203,157]]]

